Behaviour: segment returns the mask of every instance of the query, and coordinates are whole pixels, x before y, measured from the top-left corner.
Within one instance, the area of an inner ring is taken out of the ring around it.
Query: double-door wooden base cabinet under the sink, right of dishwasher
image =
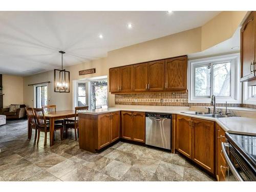
[[[176,150],[215,173],[215,123],[177,115]]]

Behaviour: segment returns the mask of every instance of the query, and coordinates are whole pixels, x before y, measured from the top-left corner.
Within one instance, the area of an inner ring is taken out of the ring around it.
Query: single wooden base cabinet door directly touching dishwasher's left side
[[[145,142],[145,113],[133,113],[133,140]]]

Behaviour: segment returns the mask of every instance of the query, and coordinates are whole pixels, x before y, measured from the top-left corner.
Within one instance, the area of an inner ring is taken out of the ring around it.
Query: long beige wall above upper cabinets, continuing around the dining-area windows
[[[230,38],[232,36],[231,34],[233,34],[235,29],[241,24],[245,13],[246,12],[220,13],[203,27],[110,51],[105,58],[86,62],[81,65],[65,67],[66,70],[70,71],[71,76],[70,93],[54,93],[53,71],[27,76],[24,78],[24,102],[29,106],[33,106],[33,88],[28,87],[27,84],[51,81],[48,90],[49,104],[56,104],[57,110],[72,109],[73,80],[108,75],[109,68],[112,67],[201,52],[208,47],[215,46],[219,44],[219,42]],[[229,25],[229,23],[232,23],[232,25]],[[224,27],[227,31],[226,33],[222,33],[220,30]],[[96,68],[96,73],[78,75],[78,71],[90,68]],[[109,93],[108,101],[109,106],[115,105],[114,95]]]

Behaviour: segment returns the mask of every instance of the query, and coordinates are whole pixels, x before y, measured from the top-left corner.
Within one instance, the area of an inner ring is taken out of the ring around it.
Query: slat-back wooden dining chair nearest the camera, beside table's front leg
[[[50,124],[46,121],[45,117],[45,111],[42,108],[34,108],[34,113],[36,117],[36,126],[37,126],[37,131],[38,131],[38,136],[37,136],[37,144],[39,142],[40,138],[40,132],[45,133],[45,143],[46,145],[47,142],[47,133],[50,132]],[[63,126],[62,124],[54,124],[54,131],[60,130],[60,139],[63,139]]]

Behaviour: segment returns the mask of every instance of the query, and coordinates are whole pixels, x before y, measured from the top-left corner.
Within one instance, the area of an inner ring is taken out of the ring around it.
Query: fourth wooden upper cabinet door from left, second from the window
[[[164,60],[148,63],[147,83],[150,91],[164,89]]]

